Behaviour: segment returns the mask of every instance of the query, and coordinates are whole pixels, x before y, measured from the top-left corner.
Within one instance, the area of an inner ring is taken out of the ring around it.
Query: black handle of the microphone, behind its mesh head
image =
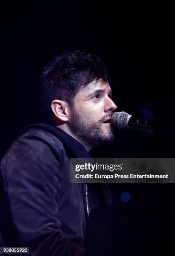
[[[142,128],[148,131],[154,131],[154,121],[136,118],[133,115],[128,120],[128,127]]]

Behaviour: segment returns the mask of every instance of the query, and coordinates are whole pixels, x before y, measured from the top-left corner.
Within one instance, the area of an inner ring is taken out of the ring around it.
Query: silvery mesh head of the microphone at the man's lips
[[[115,112],[112,115],[112,119],[111,119],[111,123],[112,125],[114,125],[115,127],[119,128],[119,129],[125,129],[128,128],[128,118],[131,115],[122,111],[122,112]]]

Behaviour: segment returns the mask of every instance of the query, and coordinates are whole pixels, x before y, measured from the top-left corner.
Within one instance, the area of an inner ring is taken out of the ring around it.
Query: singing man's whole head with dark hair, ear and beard
[[[82,51],[65,52],[41,74],[40,105],[53,123],[92,148],[111,141],[110,123],[117,108],[111,100],[110,77],[102,61]]]

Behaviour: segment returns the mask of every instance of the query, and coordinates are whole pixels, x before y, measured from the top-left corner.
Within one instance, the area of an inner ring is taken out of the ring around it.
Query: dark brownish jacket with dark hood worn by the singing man
[[[87,207],[110,205],[111,197],[105,184],[71,184],[70,158],[90,155],[59,128],[33,124],[20,132],[0,165],[3,246],[27,246],[30,255],[85,255]]]

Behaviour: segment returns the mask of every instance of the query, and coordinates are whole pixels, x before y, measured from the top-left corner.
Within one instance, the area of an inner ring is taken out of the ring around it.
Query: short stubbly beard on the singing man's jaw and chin
[[[112,115],[112,114],[111,114]],[[102,128],[104,121],[110,118],[106,115],[101,120],[88,123],[88,118],[80,115],[75,108],[72,110],[70,129],[78,141],[86,146],[101,146],[104,143],[111,143],[114,140],[114,129],[111,125]]]

